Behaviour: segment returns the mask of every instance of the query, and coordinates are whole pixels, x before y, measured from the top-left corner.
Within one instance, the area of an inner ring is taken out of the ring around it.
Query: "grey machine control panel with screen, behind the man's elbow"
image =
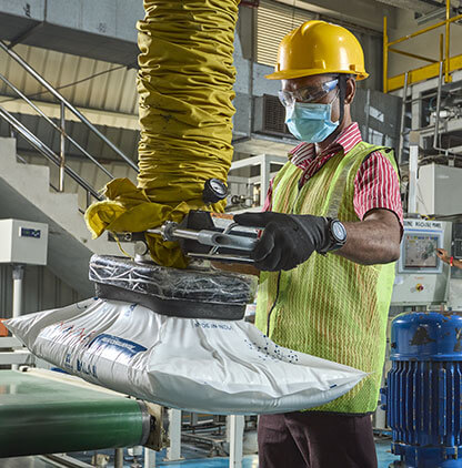
[[[451,223],[404,220],[392,305],[429,305],[448,301],[450,268],[436,256],[451,248]]]

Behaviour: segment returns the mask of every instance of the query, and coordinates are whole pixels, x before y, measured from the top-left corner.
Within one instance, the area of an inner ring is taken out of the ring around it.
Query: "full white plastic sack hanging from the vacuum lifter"
[[[178,318],[87,299],[10,319],[37,356],[97,385],[210,414],[273,414],[322,405],[365,373],[275,345],[245,322]]]

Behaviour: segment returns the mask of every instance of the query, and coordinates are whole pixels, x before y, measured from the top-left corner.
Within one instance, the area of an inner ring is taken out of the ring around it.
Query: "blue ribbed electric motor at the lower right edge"
[[[462,313],[398,316],[383,401],[395,467],[462,467]]]

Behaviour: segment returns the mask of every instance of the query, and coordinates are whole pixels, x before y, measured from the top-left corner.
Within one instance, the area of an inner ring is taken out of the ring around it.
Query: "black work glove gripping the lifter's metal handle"
[[[234,222],[264,228],[251,253],[254,266],[265,272],[292,269],[311,254],[327,252],[331,244],[328,217],[273,212],[242,213]]]

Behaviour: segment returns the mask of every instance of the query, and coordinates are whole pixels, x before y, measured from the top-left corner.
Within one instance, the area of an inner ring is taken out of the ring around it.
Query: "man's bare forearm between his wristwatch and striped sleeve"
[[[362,265],[395,262],[400,257],[401,231],[393,213],[380,217],[371,214],[364,221],[343,224],[346,243],[334,254]],[[395,228],[391,228],[393,225]]]

